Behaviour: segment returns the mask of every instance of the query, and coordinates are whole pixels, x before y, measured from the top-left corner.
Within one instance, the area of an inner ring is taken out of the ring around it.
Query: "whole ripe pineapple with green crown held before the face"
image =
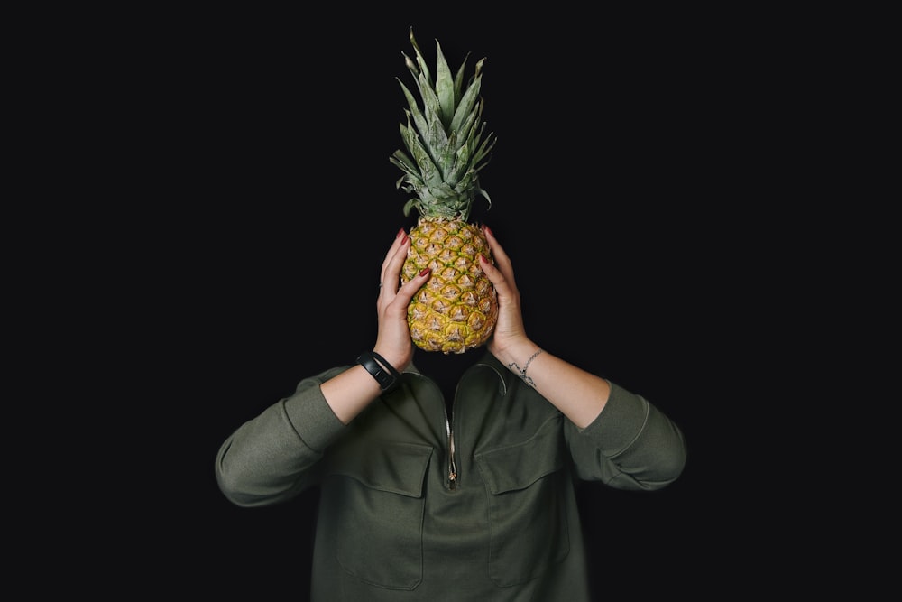
[[[410,43],[416,61],[402,54],[423,107],[399,79],[410,107],[405,109],[407,125],[400,124],[400,134],[410,154],[398,150],[390,157],[404,172],[397,188],[416,195],[404,205],[404,215],[412,209],[419,212],[416,226],[410,228],[401,282],[432,268],[429,280],[410,300],[410,335],[426,351],[460,354],[482,346],[498,320],[494,286],[479,264],[479,255],[489,261],[492,255],[482,230],[468,221],[477,194],[492,205],[477,176],[495,143],[494,134],[483,139],[479,88],[484,59],[476,63],[475,74],[464,87],[466,59],[453,77],[436,41],[433,81],[412,29]]]

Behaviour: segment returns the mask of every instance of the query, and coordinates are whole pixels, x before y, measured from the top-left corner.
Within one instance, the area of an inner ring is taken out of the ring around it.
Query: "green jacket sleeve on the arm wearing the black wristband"
[[[302,380],[295,393],[244,422],[216,454],[216,482],[239,506],[289,500],[316,480],[317,462],[345,429],[319,385],[345,371],[333,368]]]

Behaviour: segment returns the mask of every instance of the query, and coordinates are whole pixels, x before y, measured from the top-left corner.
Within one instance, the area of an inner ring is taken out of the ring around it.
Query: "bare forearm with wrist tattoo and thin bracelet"
[[[515,375],[553,403],[580,429],[604,409],[611,385],[600,376],[566,362],[532,341],[502,352],[499,360]]]

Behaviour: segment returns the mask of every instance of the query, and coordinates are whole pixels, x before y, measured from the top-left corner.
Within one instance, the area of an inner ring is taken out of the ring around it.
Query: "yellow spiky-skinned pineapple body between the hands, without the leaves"
[[[414,344],[445,354],[483,346],[498,321],[498,297],[479,263],[480,255],[492,261],[482,230],[460,218],[423,216],[409,236],[401,282],[432,268],[408,306]]]

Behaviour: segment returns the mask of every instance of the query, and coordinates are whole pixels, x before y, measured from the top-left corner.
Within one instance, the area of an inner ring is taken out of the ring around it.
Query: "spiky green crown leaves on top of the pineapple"
[[[485,59],[476,63],[474,75],[464,86],[466,59],[452,77],[441,44],[436,41],[433,80],[412,29],[410,43],[416,51],[416,61],[401,54],[417,82],[423,107],[399,79],[408,102],[404,110],[407,125],[400,124],[401,140],[408,153],[398,150],[389,158],[404,172],[396,187],[416,195],[404,205],[404,215],[416,208],[421,215],[466,219],[477,194],[492,205],[478,178],[495,144],[494,134],[485,134],[483,99],[479,96]]]

